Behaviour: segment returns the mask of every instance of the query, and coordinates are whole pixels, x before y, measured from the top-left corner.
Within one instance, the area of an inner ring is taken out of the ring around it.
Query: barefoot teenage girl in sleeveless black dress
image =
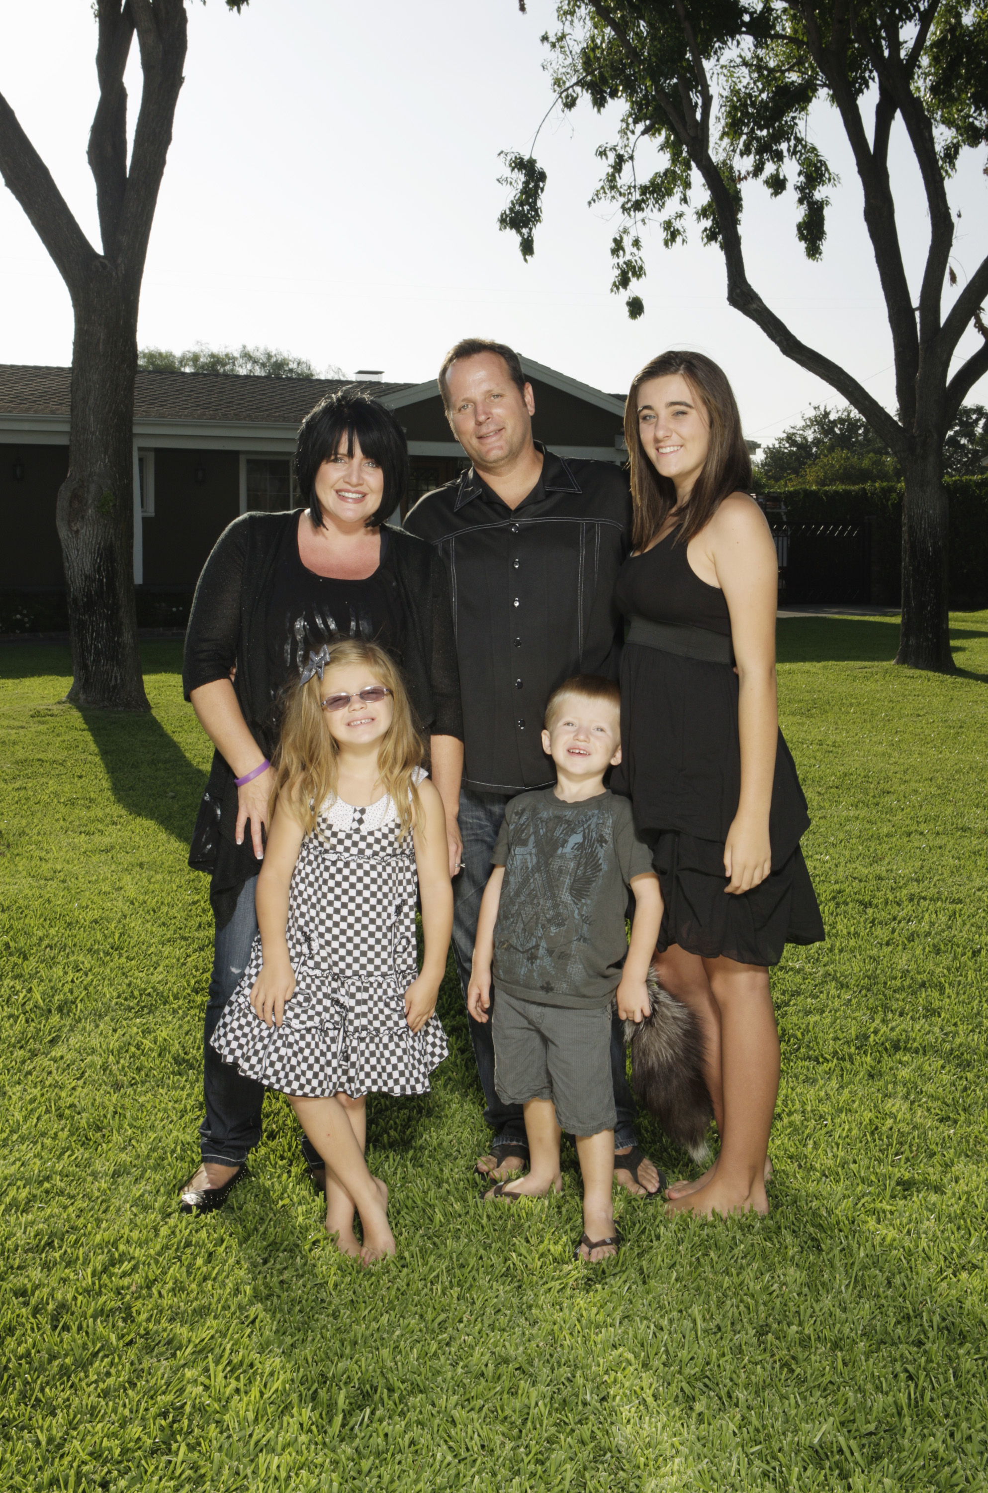
[[[624,763],[666,905],[655,967],[700,1018],[721,1151],[673,1211],[769,1211],[779,1038],[769,966],[824,938],[800,850],[806,799],[779,732],[776,552],[748,496],[751,460],[727,378],[667,352],[631,384],[625,436],[634,552],[616,597]]]

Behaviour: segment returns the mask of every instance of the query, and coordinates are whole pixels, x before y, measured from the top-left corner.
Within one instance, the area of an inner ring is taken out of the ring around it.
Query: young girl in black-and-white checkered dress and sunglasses
[[[364,1265],[395,1250],[388,1190],[364,1160],[366,1096],[428,1093],[446,1056],[434,1011],[452,888],[442,799],[421,761],[384,649],[346,640],[309,655],[272,763],[260,933],[212,1036],[224,1062],[287,1096],[325,1160],[325,1227]]]

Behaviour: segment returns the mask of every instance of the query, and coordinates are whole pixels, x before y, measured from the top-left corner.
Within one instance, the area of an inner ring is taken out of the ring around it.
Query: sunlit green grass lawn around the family
[[[210,964],[179,648],[143,718],[0,648],[0,1487],[987,1487],[988,614],[954,621],[949,679],[894,669],[888,620],[779,624],[828,942],[773,979],[772,1214],[621,1193],[595,1269],[572,1154],[561,1199],[479,1205],[449,978],[433,1093],[370,1108],[395,1262],[327,1242],[275,1097],[254,1179],[179,1217]]]

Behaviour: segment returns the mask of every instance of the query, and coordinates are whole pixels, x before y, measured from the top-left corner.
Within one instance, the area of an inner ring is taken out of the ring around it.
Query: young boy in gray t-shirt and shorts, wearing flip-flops
[[[645,976],[663,900],[631,805],[604,788],[621,761],[621,694],[576,675],[549,697],[542,733],[557,782],[512,799],[481,903],[467,1009],[487,1021],[494,997],[494,1085],[525,1109],[531,1166],[487,1199],[560,1191],[560,1138],[576,1138],[584,1235],[573,1254],[616,1254],[610,1006],[649,1014]],[[624,914],[634,893],[628,948]],[[494,991],[491,991],[491,975]]]

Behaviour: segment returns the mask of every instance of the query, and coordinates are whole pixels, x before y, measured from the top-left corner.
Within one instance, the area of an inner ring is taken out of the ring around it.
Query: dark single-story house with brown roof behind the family
[[[624,461],[624,397],[522,358],[534,434],[570,457]],[[434,379],[346,381],[394,411],[409,442],[412,502],[467,464]],[[139,372],[134,397],[134,582],[191,593],[222,529],[293,494],[296,431],[339,379]],[[55,497],[69,455],[69,369],[0,364],[0,591],[64,591]],[[148,608],[143,608],[148,617]],[[4,629],[0,627],[0,632]]]

